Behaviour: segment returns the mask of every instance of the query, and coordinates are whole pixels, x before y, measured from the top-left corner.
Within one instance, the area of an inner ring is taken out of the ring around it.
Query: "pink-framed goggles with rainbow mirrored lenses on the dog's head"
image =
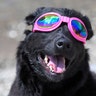
[[[50,32],[58,28],[61,23],[66,23],[71,35],[78,41],[86,42],[88,35],[84,23],[76,17],[61,16],[55,12],[48,12],[41,15],[34,24],[33,32]]]

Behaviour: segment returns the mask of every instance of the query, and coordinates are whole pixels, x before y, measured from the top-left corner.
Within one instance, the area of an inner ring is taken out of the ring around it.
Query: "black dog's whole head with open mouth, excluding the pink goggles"
[[[27,24],[34,26],[36,19],[47,12],[80,18],[88,31],[87,40],[92,37],[88,18],[74,10],[39,8],[35,13],[26,17]],[[84,44],[70,34],[67,24],[62,23],[51,32],[27,31],[26,34],[24,52],[29,61],[27,66],[30,66],[30,71],[34,72],[39,79],[47,82],[60,82],[80,71],[80,66],[83,66],[81,62],[86,53]]]

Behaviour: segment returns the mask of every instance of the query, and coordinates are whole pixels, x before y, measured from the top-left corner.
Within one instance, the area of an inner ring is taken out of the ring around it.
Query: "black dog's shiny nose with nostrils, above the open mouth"
[[[61,39],[56,41],[56,48],[58,50],[69,51],[72,48],[72,44],[70,41],[61,38]]]

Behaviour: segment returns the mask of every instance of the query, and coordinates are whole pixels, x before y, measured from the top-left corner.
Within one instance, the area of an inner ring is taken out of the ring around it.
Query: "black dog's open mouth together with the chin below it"
[[[62,55],[38,54],[38,61],[43,67],[43,74],[48,81],[60,82],[64,79],[70,60]]]

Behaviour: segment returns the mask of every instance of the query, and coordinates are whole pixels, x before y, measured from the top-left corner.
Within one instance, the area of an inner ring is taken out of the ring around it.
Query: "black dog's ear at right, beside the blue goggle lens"
[[[92,36],[93,36],[93,30],[92,30],[92,26],[90,23],[90,20],[87,16],[84,16],[84,22],[88,31],[88,37],[87,40],[89,40]]]

